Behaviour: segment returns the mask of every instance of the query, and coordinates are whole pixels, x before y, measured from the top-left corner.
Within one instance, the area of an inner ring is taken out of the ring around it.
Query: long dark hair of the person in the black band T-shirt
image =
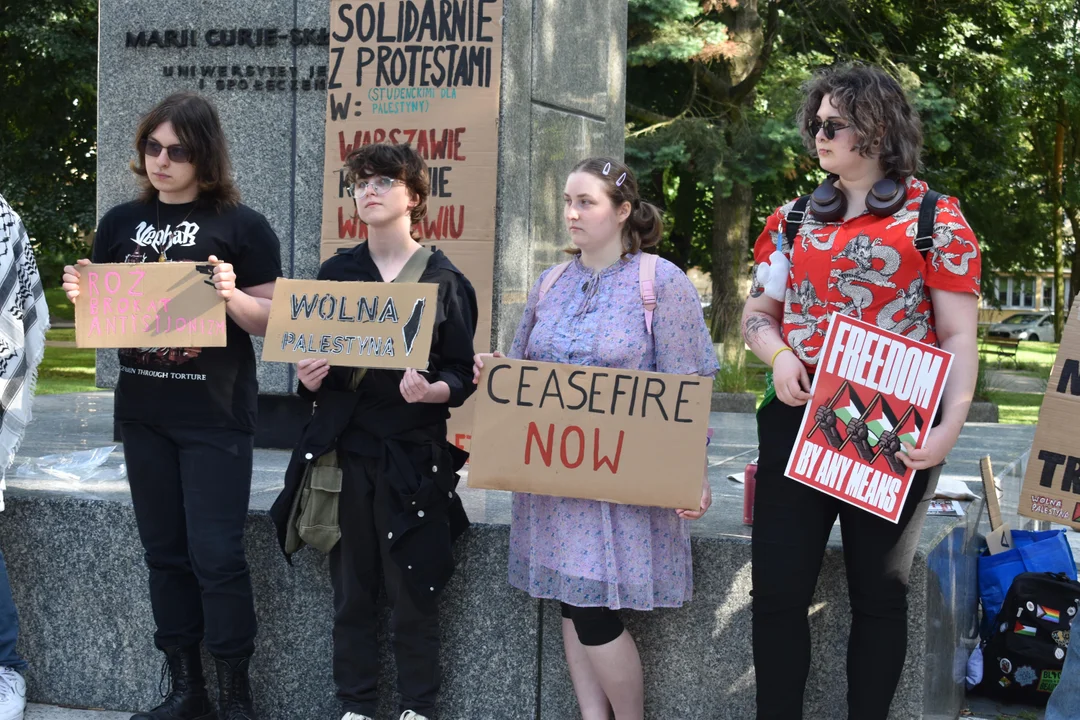
[[[221,130],[217,109],[202,95],[191,92],[174,93],[156,105],[139,121],[135,133],[136,160],[132,161],[132,172],[138,176],[143,189],[139,200],[151,202],[158,198],[158,190],[147,177],[146,158],[143,154],[150,133],[162,123],[172,123],[173,132],[187,149],[195,167],[201,206],[220,213],[234,207],[240,202],[240,190],[232,181],[232,163],[229,161],[229,146]]]

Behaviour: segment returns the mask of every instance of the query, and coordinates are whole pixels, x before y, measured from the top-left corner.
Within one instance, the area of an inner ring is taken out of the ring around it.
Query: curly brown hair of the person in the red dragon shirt
[[[818,117],[821,98],[828,95],[855,135],[859,154],[876,151],[886,177],[915,175],[922,153],[922,123],[903,87],[879,67],[845,63],[822,68],[802,85],[806,99],[797,122],[802,144],[818,157],[810,121]]]

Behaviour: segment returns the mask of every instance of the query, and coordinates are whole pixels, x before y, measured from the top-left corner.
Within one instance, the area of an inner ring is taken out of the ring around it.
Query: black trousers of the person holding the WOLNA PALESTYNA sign
[[[438,611],[422,610],[389,558],[394,512],[377,459],[339,452],[341,540],[330,551],[334,584],[334,682],[345,712],[375,717],[379,647],[376,601],[383,586],[397,663],[399,712],[433,717],[438,694]]]

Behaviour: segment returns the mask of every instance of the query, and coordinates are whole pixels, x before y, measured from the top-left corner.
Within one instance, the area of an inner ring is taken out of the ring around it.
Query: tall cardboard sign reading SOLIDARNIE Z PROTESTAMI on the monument
[[[330,3],[322,257],[367,239],[346,192],[349,152],[407,142],[428,163],[421,242],[476,289],[477,350],[491,337],[502,0]]]

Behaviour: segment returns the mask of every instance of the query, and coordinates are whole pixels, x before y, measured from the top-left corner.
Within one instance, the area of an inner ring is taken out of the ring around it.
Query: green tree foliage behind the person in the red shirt
[[[799,85],[815,67],[859,60],[896,77],[919,110],[920,175],[961,200],[983,244],[984,291],[995,271],[1053,267],[1062,216],[1080,221],[1078,4],[631,0],[626,153],[665,203],[662,253],[715,272],[717,244],[732,247],[717,235],[717,199],[750,186],[748,248],[769,212],[815,187],[823,174],[794,126]],[[714,92],[711,78],[740,73],[753,80],[744,94]],[[1074,255],[1067,239],[1059,246]],[[713,321],[717,338],[733,337]]]

